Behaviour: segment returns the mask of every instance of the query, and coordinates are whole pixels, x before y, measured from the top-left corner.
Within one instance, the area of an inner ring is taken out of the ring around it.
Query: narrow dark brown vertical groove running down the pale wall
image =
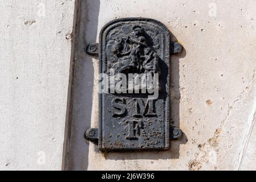
[[[70,78],[68,82],[68,99],[66,111],[66,123],[64,131],[64,144],[63,144],[63,157],[62,157],[62,170],[68,170],[68,157],[70,149],[70,137],[72,126],[72,109],[73,109],[73,96],[74,96],[74,81],[75,77],[75,56],[78,44],[79,22],[80,22],[80,7],[81,0],[75,1],[74,21],[72,31],[72,44],[71,44],[71,60],[70,60]]]

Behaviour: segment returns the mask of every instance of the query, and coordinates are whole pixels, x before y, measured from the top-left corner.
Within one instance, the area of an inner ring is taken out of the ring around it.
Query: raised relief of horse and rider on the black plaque
[[[111,51],[118,59],[119,73],[158,73],[159,56],[149,46],[143,27],[134,26],[126,38],[116,38]]]

